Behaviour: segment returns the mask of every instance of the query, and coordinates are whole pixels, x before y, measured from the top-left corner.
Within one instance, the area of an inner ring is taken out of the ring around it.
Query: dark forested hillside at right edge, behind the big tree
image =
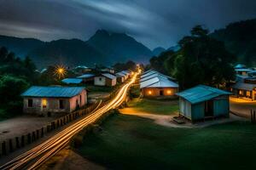
[[[212,37],[223,41],[226,48],[237,56],[237,62],[256,65],[256,20],[232,23],[214,31]]]

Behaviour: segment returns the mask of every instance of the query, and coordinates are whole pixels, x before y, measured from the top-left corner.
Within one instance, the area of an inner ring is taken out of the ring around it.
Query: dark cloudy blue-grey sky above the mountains
[[[168,48],[197,24],[213,30],[252,18],[256,0],[0,0],[0,34],[44,41],[106,29]]]

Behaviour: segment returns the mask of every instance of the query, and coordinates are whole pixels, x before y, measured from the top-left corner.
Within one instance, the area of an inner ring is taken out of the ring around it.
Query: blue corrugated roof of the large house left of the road
[[[23,97],[72,98],[80,94],[84,87],[40,87],[32,86],[21,94]]]

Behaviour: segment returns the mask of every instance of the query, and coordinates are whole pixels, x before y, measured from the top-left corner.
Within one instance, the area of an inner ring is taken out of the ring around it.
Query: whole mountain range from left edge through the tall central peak
[[[113,65],[134,60],[148,62],[153,53],[141,42],[125,33],[96,31],[88,41],[60,39],[42,42],[32,38],[0,36],[5,46],[20,57],[30,56],[39,68],[47,65]]]

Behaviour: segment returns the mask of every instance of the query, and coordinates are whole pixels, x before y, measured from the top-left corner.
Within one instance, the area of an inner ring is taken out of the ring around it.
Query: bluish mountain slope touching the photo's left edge
[[[0,47],[5,46],[10,51],[24,57],[32,49],[42,46],[44,42],[34,38],[7,37],[0,35]]]

